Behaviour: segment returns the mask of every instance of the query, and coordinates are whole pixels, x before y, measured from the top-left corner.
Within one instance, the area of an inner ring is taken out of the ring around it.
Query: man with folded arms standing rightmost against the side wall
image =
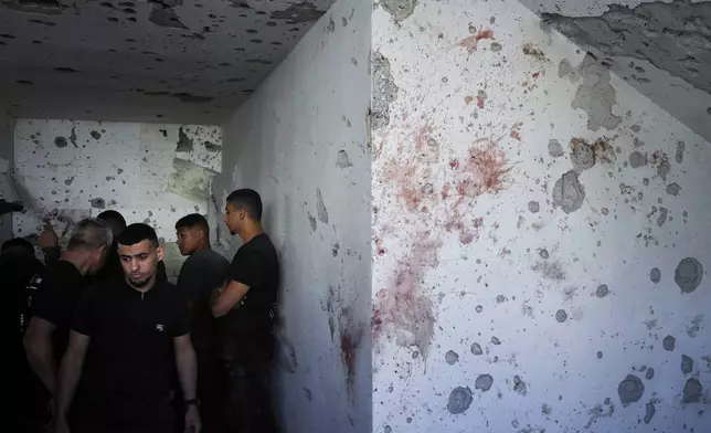
[[[269,379],[279,261],[261,221],[256,191],[241,189],[227,197],[225,223],[244,244],[232,260],[227,285],[212,303],[212,314],[223,317],[223,357],[240,433],[276,432]]]

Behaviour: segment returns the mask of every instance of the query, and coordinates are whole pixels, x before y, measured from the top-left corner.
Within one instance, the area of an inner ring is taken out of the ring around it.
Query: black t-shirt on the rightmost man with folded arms
[[[223,356],[234,359],[234,353],[238,352],[236,357],[244,358],[261,351],[254,355],[270,358],[279,261],[268,235],[262,233],[242,245],[232,260],[229,277],[248,286],[250,291],[223,317]],[[257,362],[256,359],[254,361]]]

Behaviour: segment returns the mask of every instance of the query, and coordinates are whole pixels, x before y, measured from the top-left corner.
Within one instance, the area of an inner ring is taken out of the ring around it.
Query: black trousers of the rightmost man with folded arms
[[[276,433],[272,406],[270,369],[225,363],[227,424],[231,433]]]

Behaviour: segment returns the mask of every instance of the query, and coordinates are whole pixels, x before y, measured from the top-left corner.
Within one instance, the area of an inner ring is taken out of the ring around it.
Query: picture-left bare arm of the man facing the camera
[[[76,384],[82,377],[82,367],[84,357],[92,337],[79,334],[75,330],[70,331],[70,345],[66,348],[62,367],[57,377],[57,387],[55,393],[55,414],[57,425],[66,424],[66,415],[74,399]]]

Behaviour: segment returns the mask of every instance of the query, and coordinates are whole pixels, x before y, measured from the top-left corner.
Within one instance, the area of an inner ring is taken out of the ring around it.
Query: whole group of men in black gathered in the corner
[[[23,366],[17,431],[276,431],[277,253],[256,191],[232,192],[224,220],[243,241],[232,263],[210,247],[204,216],[176,223],[188,256],[177,286],[156,231],[116,211],[77,223],[65,251],[45,228],[44,265],[24,239],[2,245]]]

